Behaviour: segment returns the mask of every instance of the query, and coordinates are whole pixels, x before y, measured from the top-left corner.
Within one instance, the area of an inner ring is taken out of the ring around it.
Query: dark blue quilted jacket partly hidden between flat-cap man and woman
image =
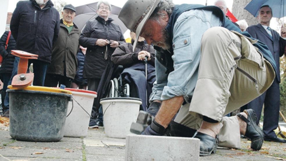
[[[83,78],[83,65],[85,55],[83,54],[81,49],[79,49],[76,57],[78,59],[78,67],[76,70],[76,76],[74,77],[74,83],[76,83],[77,85],[87,85],[87,79]]]

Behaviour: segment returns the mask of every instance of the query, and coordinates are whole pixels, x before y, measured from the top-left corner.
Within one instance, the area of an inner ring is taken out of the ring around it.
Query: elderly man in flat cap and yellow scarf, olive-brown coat
[[[76,54],[79,48],[79,36],[81,31],[73,23],[76,16],[76,8],[67,4],[62,10],[60,20],[60,33],[52,51],[52,61],[47,69],[45,86],[57,87],[61,84],[70,88],[72,80],[76,76],[78,61]]]

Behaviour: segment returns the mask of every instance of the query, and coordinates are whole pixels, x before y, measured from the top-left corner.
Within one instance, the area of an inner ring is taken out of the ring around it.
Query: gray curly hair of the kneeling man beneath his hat
[[[158,3],[158,6],[155,8],[149,19],[158,19],[160,16],[164,16],[165,13],[161,11],[166,11],[168,16],[170,17],[171,13],[173,12],[175,4],[172,0],[161,0]]]

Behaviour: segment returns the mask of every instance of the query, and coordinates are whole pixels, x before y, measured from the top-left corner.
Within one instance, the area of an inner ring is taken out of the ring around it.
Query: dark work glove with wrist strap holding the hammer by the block
[[[155,119],[153,119],[152,123],[141,133],[141,135],[162,136],[166,133],[167,128],[164,128],[164,126],[158,124]]]

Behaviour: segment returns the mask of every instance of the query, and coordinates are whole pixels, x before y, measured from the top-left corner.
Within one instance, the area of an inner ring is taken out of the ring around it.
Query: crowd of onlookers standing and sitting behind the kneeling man
[[[224,0],[217,0],[214,5],[226,15],[228,8]],[[146,43],[143,37],[139,37],[133,51],[135,33],[131,32],[130,34],[132,42],[126,43],[119,25],[113,23],[113,19],[109,17],[110,12],[110,3],[99,1],[96,10],[98,16],[88,21],[81,31],[73,23],[76,8],[71,4],[64,6],[61,12],[62,19],[60,19],[60,15],[53,8],[51,0],[19,1],[12,15],[11,31],[6,31],[0,40],[0,53],[3,57],[0,67],[0,78],[3,82],[1,92],[2,116],[9,117],[9,95],[6,93],[6,89],[18,70],[19,58],[10,54],[12,49],[38,55],[37,60],[29,60],[28,63],[29,66],[33,63],[35,75],[33,85],[57,87],[63,84],[68,88],[88,89],[97,92],[99,92],[100,82],[103,81],[103,73],[109,73],[106,70],[110,70],[110,67],[123,65],[124,68],[134,69],[142,73],[145,72],[143,61],[147,56],[149,69],[154,69],[152,72],[148,72],[149,77],[146,82],[149,86],[143,87],[140,82],[133,80],[134,84],[131,88],[132,96],[142,98],[143,102],[146,102],[145,92],[142,94],[139,91],[149,89],[147,90],[149,96],[153,83],[156,85],[155,50],[153,46]],[[265,6],[260,9],[258,25],[248,27],[245,20],[233,23],[241,31],[247,31],[253,38],[264,42],[273,54],[279,69],[279,57],[285,53],[285,44],[282,43],[285,43],[286,28],[281,28],[280,36],[269,27],[271,18],[272,10],[269,6]],[[127,79],[130,73],[124,76]],[[138,78],[138,80],[140,79],[142,80],[141,77]],[[143,79],[145,79],[144,75]],[[260,118],[264,104],[263,130],[266,138],[271,141],[286,142],[277,138],[274,133],[278,126],[279,117],[279,83],[280,75],[277,73],[267,92],[243,108],[254,109]],[[102,107],[98,105],[98,99],[101,98],[94,99],[93,118],[90,121],[90,127],[103,126],[103,111]],[[149,102],[143,103],[141,109],[149,110],[152,115],[156,115],[160,103],[160,100],[153,100],[151,104]],[[149,106],[150,108],[147,109],[146,107]]]

